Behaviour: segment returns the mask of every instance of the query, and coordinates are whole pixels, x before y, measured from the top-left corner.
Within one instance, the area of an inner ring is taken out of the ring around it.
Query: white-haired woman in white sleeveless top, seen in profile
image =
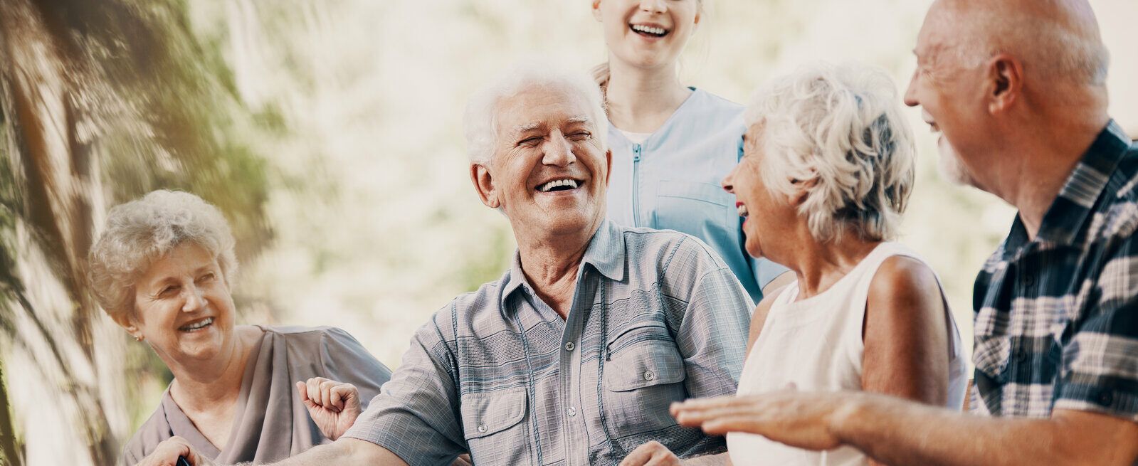
[[[762,219],[744,222],[747,251],[798,281],[756,307],[739,397],[793,385],[960,408],[967,377],[940,283],[889,241],[914,177],[899,103],[883,72],[814,66],[764,86],[747,108],[744,156],[723,186],[740,215]],[[736,466],[873,463],[849,447],[813,452],[740,432],[727,450]]]

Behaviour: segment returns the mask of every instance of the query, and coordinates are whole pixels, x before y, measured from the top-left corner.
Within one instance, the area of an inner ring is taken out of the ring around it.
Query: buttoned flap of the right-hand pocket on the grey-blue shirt
[[[622,349],[604,365],[604,386],[615,392],[676,383],[686,376],[679,350],[675,343],[665,340]]]

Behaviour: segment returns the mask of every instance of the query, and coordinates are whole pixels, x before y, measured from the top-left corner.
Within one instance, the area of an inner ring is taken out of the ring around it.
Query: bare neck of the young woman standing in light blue
[[[692,94],[691,89],[679,84],[675,66],[640,68],[611,60],[609,73],[609,120],[620,130],[654,132]]]

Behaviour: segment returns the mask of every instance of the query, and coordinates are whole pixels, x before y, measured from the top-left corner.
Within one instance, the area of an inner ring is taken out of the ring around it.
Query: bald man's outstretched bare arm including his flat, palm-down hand
[[[866,392],[784,390],[673,405],[681,425],[750,432],[810,450],[853,446],[890,465],[1131,465],[1138,423],[1056,409],[1048,419],[980,417]]]

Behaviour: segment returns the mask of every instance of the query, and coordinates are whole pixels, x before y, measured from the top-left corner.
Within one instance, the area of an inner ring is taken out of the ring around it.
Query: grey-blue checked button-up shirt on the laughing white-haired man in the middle
[[[415,332],[403,365],[347,436],[411,465],[615,465],[655,440],[681,457],[725,450],[668,405],[735,392],[752,303],[724,261],[671,231],[605,220],[566,321],[518,256]]]

